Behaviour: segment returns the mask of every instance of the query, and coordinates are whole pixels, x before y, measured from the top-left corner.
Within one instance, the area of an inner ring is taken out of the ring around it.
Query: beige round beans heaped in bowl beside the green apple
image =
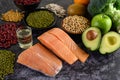
[[[63,20],[62,28],[69,33],[81,34],[90,26],[90,21],[83,16],[68,16]]]

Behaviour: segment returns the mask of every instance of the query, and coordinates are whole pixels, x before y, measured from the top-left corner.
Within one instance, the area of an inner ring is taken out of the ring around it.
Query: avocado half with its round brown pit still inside
[[[82,42],[91,51],[99,48],[101,42],[101,31],[97,27],[89,27],[82,34]]]

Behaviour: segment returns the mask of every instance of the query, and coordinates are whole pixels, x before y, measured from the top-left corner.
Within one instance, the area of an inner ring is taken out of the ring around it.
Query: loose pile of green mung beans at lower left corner
[[[15,54],[11,51],[0,50],[0,80],[14,72]]]

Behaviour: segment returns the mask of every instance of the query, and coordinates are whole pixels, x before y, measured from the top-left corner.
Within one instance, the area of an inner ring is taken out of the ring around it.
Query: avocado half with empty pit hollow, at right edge
[[[106,54],[118,48],[120,48],[120,34],[111,31],[103,36],[99,51],[101,54]]]

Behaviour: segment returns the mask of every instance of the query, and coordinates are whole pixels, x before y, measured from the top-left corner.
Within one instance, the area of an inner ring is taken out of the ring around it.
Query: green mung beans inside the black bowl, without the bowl
[[[49,27],[53,21],[53,13],[44,10],[32,12],[26,18],[27,24],[33,28]]]

